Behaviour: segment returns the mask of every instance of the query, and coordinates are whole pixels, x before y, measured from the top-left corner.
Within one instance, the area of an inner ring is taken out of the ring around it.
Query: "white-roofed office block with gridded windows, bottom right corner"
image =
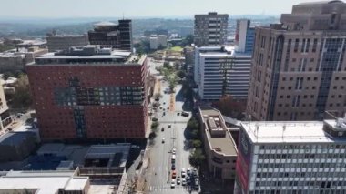
[[[345,193],[346,118],[245,122],[236,194]]]

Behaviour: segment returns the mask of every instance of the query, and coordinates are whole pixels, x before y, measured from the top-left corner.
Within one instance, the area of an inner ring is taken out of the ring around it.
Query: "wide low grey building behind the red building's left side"
[[[58,36],[55,34],[49,34],[46,36],[46,45],[48,46],[49,52],[58,50],[66,50],[71,46],[86,46],[88,40],[86,35],[80,36]]]

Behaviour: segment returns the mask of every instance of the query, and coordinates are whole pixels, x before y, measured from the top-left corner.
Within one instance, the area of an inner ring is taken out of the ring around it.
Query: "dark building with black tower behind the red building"
[[[113,47],[132,52],[132,21],[118,20],[118,25],[111,22],[100,22],[94,30],[88,32],[91,45]]]

